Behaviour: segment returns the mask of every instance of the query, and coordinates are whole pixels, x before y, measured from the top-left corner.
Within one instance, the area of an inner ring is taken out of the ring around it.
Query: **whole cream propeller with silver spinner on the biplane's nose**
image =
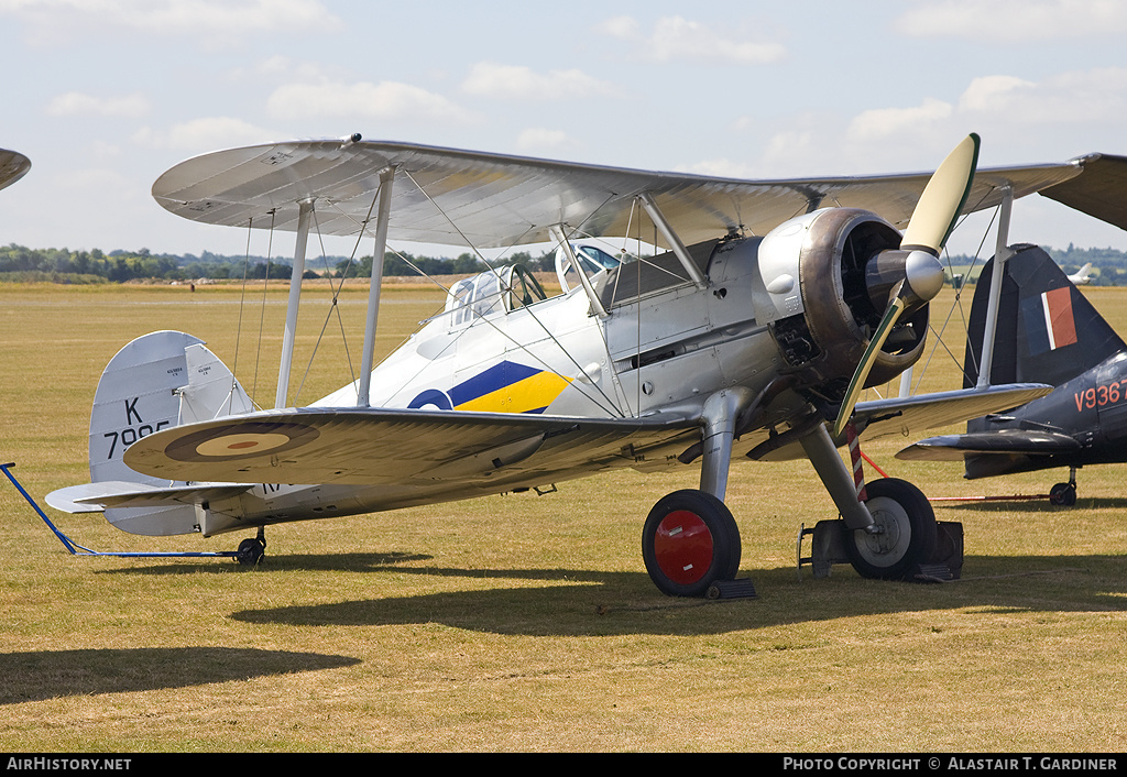
[[[893,289],[891,299],[880,324],[872,332],[869,347],[857,365],[845,399],[842,401],[834,436],[838,436],[853,415],[864,381],[885,345],[889,333],[911,303],[934,299],[943,288],[943,265],[939,256],[970,193],[970,183],[978,165],[978,135],[971,133],[947,156],[924,188],[908,227],[900,239],[900,250],[907,251],[904,277]]]

